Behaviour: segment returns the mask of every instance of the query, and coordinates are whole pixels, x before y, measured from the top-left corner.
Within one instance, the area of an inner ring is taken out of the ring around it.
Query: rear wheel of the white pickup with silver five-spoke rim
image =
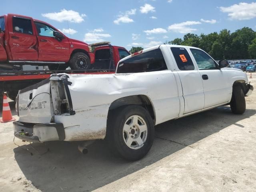
[[[108,118],[106,140],[114,154],[126,160],[139,160],[154,141],[154,122],[149,112],[138,105],[120,107]]]

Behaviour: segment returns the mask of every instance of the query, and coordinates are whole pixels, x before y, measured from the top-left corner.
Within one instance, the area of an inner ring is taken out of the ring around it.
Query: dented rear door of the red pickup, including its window
[[[36,32],[32,18],[9,16],[9,45],[13,60],[38,60]]]

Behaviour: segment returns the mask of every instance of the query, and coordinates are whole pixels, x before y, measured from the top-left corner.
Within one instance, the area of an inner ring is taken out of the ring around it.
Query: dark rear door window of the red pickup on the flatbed
[[[30,19],[26,18],[12,18],[12,28],[15,33],[33,34],[32,23]]]

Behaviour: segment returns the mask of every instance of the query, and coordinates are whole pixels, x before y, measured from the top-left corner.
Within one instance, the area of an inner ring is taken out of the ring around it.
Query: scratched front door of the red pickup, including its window
[[[64,36],[62,40],[57,40],[53,36],[56,31],[52,26],[35,21],[38,32],[38,61],[68,62],[70,58],[70,44],[68,38]]]

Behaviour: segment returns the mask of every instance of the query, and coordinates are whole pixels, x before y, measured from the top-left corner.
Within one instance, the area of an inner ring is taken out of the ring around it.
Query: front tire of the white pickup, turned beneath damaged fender
[[[234,86],[230,108],[234,114],[243,114],[246,109],[244,92],[240,86]]]

